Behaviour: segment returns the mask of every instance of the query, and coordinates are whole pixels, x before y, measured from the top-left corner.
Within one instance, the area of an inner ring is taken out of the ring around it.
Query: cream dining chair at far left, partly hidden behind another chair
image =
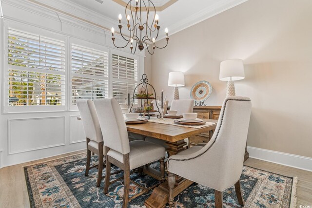
[[[98,121],[98,114],[94,107],[94,103],[90,99],[82,99],[77,101],[78,110],[81,116],[83,129],[87,141],[87,164],[85,176],[88,176],[89,170],[96,166],[90,167],[91,151],[98,155],[98,179],[97,187],[100,186],[103,171],[103,155],[105,150],[103,146],[103,136]]]

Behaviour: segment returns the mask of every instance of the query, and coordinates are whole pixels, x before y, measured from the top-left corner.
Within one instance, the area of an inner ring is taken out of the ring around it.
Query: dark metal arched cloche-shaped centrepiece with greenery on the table
[[[135,88],[134,92],[133,92],[133,97],[132,97],[132,105],[131,105],[131,108],[130,108],[130,112],[132,112],[132,107],[133,107],[133,104],[134,104],[134,100],[135,99],[140,99],[140,100],[146,100],[146,107],[147,107],[147,110],[146,110],[146,113],[147,113],[147,118],[150,119],[150,112],[151,110],[150,109],[150,104],[149,104],[149,100],[155,100],[155,104],[158,111],[153,111],[153,112],[158,112],[157,114],[157,118],[161,118],[161,113],[159,111],[159,108],[158,108],[158,105],[157,105],[157,101],[156,101],[156,92],[155,92],[155,89],[154,87],[148,83],[148,78],[146,76],[146,74],[143,74],[142,75],[142,78],[140,79],[141,83],[139,83],[137,85],[137,87]],[[154,94],[149,94],[148,92],[148,86],[150,86],[153,91],[154,91]],[[140,87],[140,88],[138,88]],[[136,95],[136,90],[139,89],[139,94]],[[155,108],[154,108],[155,109]]]

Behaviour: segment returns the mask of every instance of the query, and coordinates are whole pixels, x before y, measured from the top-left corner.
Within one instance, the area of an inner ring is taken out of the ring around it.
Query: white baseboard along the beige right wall
[[[249,157],[292,168],[312,171],[312,158],[280,151],[265,150],[247,146]]]

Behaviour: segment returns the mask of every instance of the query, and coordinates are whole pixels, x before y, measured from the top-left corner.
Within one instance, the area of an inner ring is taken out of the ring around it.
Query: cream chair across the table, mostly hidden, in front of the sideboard
[[[192,113],[193,108],[194,108],[194,100],[191,100],[191,99],[173,100],[171,102],[171,106],[170,106],[170,110],[176,110],[177,114]],[[156,139],[156,138],[151,137],[151,136],[147,136],[145,138],[145,141],[154,142],[156,144],[160,144],[160,145],[164,146],[165,148],[167,148],[166,141],[164,141],[164,140],[160,140],[160,139]],[[184,147],[188,148],[189,147],[189,138],[185,138],[184,142],[186,142],[186,145],[184,145]]]

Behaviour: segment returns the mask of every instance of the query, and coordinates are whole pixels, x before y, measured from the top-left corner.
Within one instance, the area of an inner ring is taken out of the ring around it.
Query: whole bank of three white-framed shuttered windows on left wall
[[[137,55],[11,21],[4,38],[4,113],[75,111],[78,99],[133,96]]]

